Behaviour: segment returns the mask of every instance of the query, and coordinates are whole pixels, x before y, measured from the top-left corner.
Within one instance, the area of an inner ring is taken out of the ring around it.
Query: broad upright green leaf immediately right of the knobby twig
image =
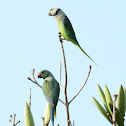
[[[123,86],[120,85],[117,97],[117,108],[121,112],[122,116],[124,117],[125,114],[125,94],[123,90]]]

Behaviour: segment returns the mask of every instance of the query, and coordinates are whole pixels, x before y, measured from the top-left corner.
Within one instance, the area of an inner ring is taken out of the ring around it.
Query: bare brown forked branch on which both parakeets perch
[[[87,83],[87,80],[89,78],[89,75],[91,73],[91,66],[89,66],[89,72],[88,72],[88,75],[87,75],[87,78],[84,82],[84,84],[82,85],[82,87],[80,88],[80,90],[77,92],[77,94],[70,100],[68,101],[68,98],[67,98],[67,67],[66,67],[66,58],[65,58],[65,52],[64,52],[64,48],[63,48],[63,38],[62,38],[62,35],[61,33],[59,32],[58,33],[58,36],[59,36],[59,41],[61,43],[61,48],[62,48],[62,53],[63,53],[63,60],[64,60],[64,67],[65,67],[65,88],[62,87],[61,85],[61,66],[62,66],[62,62],[60,62],[60,72],[59,72],[59,86],[60,88],[63,90],[64,92],[64,96],[65,96],[65,101],[62,101],[61,99],[59,99],[59,101],[61,103],[63,103],[66,107],[66,116],[67,116],[67,126],[72,126],[71,124],[71,121],[70,121],[70,116],[69,116],[69,105],[70,103],[72,103],[72,101],[80,94],[80,92],[82,91],[82,89],[84,88],[84,86],[86,85]],[[42,88],[42,86],[36,81],[35,77],[34,77],[34,73],[35,73],[35,69],[32,70],[32,73],[31,73],[31,78],[28,77],[27,79],[32,81],[33,83],[35,83],[36,85],[38,85],[40,88]],[[74,124],[73,124],[74,125]]]

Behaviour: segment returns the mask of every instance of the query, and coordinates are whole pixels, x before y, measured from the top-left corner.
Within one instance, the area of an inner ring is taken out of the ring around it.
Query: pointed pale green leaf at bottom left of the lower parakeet
[[[25,116],[25,126],[35,126],[32,113],[27,102],[25,104],[24,116]]]

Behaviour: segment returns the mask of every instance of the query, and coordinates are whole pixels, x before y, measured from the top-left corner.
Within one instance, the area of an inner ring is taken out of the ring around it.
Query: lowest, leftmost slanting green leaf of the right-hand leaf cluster
[[[102,115],[112,124],[111,120],[107,116],[107,112],[105,111],[105,109],[100,105],[100,103],[94,97],[92,97],[92,100],[94,101],[94,104],[96,105],[98,110],[102,113]]]

